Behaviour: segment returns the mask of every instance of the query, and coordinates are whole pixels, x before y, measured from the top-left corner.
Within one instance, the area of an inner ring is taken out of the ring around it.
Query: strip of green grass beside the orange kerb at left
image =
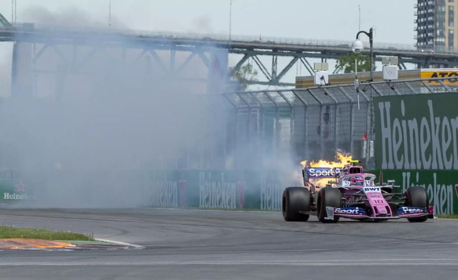
[[[85,240],[93,241],[92,235],[74,232],[55,232],[39,229],[0,227],[0,238],[34,238],[43,240]]]

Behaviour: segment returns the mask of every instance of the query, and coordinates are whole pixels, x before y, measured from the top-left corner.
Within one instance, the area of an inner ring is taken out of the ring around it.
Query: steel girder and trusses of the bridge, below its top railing
[[[210,60],[204,52],[213,47],[228,48],[230,53],[242,54],[240,60],[235,66],[228,71],[227,82],[233,74],[247,62],[249,58],[255,62],[256,66],[261,70],[265,80],[251,80],[249,84],[268,85],[268,86],[294,86],[292,82],[283,82],[281,79],[290,71],[296,63],[304,65],[305,69],[312,74],[313,69],[307,59],[338,59],[342,54],[349,52],[349,47],[324,47],[324,46],[308,46],[308,45],[288,45],[275,43],[259,43],[259,42],[227,42],[224,40],[208,40],[202,39],[186,39],[186,38],[157,38],[155,36],[136,36],[136,35],[119,35],[110,33],[91,33],[91,32],[53,32],[41,30],[12,30],[9,27],[0,26],[0,41],[15,41],[28,42],[34,44],[44,44],[38,53],[35,53],[34,62],[48,48],[52,48],[56,54],[64,60],[65,64],[72,64],[73,71],[77,71],[79,66],[91,59],[88,55],[85,59],[75,65],[75,55],[72,62],[67,62],[64,55],[59,51],[59,45],[73,45],[74,52],[76,46],[85,45],[93,46],[92,55],[98,51],[103,51],[105,47],[119,47],[123,51],[128,48],[143,49],[142,54],[149,53],[154,61],[161,66],[164,73],[168,75],[180,72],[196,55],[202,62],[209,65]],[[156,50],[169,50],[169,63],[164,63],[157,55]],[[189,52],[189,56],[181,65],[175,65],[175,53],[177,51]],[[368,51],[368,50],[364,50]],[[399,58],[399,68],[406,69],[405,63],[412,63],[418,67],[428,67],[430,65],[444,65],[451,67],[458,65],[458,54],[436,54],[423,53],[414,51],[396,51],[375,49],[375,60],[381,61],[382,55],[396,55]],[[124,55],[124,52],[123,52]],[[271,71],[262,62],[260,57],[271,57]],[[289,63],[279,69],[278,57],[288,57]],[[124,61],[124,59],[123,59]],[[166,65],[169,65],[168,67]],[[336,69],[337,73],[341,69]]]

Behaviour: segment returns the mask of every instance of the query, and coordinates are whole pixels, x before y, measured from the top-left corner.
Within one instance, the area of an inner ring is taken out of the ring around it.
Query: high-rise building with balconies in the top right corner
[[[417,0],[415,39],[417,47],[430,51],[458,51],[455,18],[458,0]]]

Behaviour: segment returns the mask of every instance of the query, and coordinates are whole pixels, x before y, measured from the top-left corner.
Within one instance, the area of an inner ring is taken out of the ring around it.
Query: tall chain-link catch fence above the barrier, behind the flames
[[[456,92],[455,83],[447,77],[363,82],[357,89],[337,85],[223,94],[220,106],[231,113],[224,143],[216,145],[220,152],[213,153],[223,156],[217,167],[253,168],[261,159],[282,155],[297,162],[333,159],[338,150],[374,167],[373,98]]]

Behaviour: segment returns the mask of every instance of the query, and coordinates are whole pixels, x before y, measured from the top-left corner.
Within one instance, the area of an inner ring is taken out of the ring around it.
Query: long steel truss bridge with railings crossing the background
[[[308,59],[321,59],[322,61],[338,59],[342,54],[349,52],[351,44],[351,41],[249,36],[232,36],[229,40],[228,36],[217,34],[133,30],[68,30],[56,26],[38,26],[26,23],[13,26],[1,15],[0,41],[32,43],[34,45],[33,63],[36,63],[47,49],[53,50],[57,57],[64,57],[60,47],[63,45],[73,47],[73,57],[65,61],[68,68],[75,71],[77,70],[75,63],[84,64],[91,59],[91,55],[96,52],[103,52],[108,47],[120,48],[122,50],[120,60],[123,61],[126,50],[139,49],[141,55],[136,60],[139,60],[142,55],[150,55],[164,73],[169,76],[176,75],[193,58],[199,58],[206,67],[209,67],[210,59],[207,55],[209,49],[214,47],[226,48],[230,53],[237,54],[234,55],[237,57],[237,63],[228,69],[227,83],[230,83],[232,75],[251,59],[252,65],[259,68],[261,79],[248,80],[248,84],[284,87],[294,86],[294,82],[283,79],[294,65],[300,64],[312,75],[313,69]],[[92,51],[78,62],[76,46],[91,47]],[[169,51],[169,59],[164,61],[157,54],[158,50]],[[365,46],[364,51],[368,52],[368,46]],[[186,59],[179,65],[175,59],[177,52],[185,52],[187,55]],[[431,65],[442,67],[458,65],[458,53],[423,51],[411,45],[375,44],[374,55],[376,61],[380,61],[384,55],[397,56],[399,69],[407,69],[406,63],[416,64],[418,68],[427,68]],[[288,60],[288,63],[280,67],[279,58]],[[13,58],[13,67],[15,64]],[[34,66],[34,71],[40,70]],[[334,72],[338,71],[339,69],[336,69]],[[202,82],[206,81],[206,78],[201,77],[199,79]]]

